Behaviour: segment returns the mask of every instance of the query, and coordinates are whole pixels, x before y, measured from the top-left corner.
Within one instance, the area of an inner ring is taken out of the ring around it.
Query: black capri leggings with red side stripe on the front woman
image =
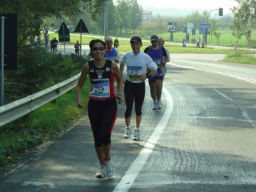
[[[104,101],[90,99],[88,102],[88,116],[92,127],[94,145],[108,145],[111,142],[117,114],[116,98]]]

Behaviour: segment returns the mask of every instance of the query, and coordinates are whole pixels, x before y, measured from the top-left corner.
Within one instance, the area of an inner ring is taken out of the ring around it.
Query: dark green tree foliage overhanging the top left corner
[[[82,11],[81,7],[92,15],[93,19],[102,12],[104,1],[90,0],[8,0],[0,1],[0,13],[17,13],[18,17],[18,47],[26,47],[26,40],[29,37],[40,35],[40,29],[46,18],[62,16],[69,19],[76,19]]]

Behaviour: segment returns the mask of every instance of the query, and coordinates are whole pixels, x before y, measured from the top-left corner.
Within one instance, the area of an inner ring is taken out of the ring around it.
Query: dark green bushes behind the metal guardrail
[[[51,54],[43,46],[19,49],[18,70],[4,73],[4,103],[40,92],[81,72],[88,58]]]

